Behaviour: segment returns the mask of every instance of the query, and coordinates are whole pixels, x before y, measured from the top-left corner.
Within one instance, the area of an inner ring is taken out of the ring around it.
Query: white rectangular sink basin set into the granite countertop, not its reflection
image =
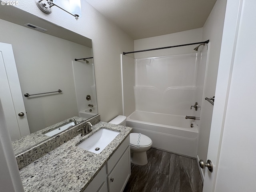
[[[99,154],[120,132],[101,128],[78,147]]]

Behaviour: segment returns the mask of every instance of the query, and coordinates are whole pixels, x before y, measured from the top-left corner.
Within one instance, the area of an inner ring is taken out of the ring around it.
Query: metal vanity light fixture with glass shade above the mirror
[[[56,5],[53,0],[35,0],[36,5],[38,6],[38,8],[46,13],[46,14],[50,14],[52,13],[52,7],[56,6],[62,10],[64,10],[65,12],[69,13],[70,15],[74,16],[76,18],[76,20],[78,20],[79,17],[81,17],[81,2],[80,0],[69,0],[69,4],[70,4],[70,12],[65,10],[64,8],[61,8],[60,6]]]

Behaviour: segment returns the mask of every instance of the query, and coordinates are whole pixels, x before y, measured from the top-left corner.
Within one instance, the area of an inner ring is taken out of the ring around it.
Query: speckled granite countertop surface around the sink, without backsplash
[[[100,154],[77,147],[100,128],[120,131],[120,134]],[[45,156],[20,170],[24,191],[80,192],[83,191],[122,144],[132,128],[99,122],[92,132],[80,134]]]

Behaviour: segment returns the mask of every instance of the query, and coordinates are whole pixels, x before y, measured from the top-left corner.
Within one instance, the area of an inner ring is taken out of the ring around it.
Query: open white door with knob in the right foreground
[[[256,191],[255,10],[227,1],[203,192]]]

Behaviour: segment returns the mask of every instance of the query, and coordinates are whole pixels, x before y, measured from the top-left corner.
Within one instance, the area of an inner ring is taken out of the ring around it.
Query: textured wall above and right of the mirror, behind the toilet
[[[108,122],[122,114],[120,54],[133,50],[134,41],[86,1],[81,6],[79,20],[56,7],[52,14],[44,14],[34,1],[19,0],[17,7],[92,39],[98,113]]]

